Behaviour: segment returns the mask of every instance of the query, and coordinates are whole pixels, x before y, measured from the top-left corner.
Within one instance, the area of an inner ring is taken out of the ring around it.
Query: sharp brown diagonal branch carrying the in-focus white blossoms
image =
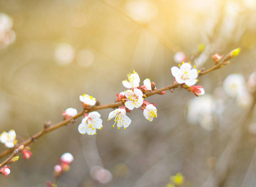
[[[236,52],[237,49],[232,50],[232,52],[230,52],[228,55],[225,56],[225,58],[223,58],[222,62],[219,62],[217,65],[214,65],[212,68],[203,71],[203,69],[201,70],[201,72],[198,73],[198,77],[208,74],[209,72],[212,72],[213,70],[216,69],[220,69],[221,67],[223,67],[223,65],[227,65],[227,60],[232,59],[232,57],[235,57],[235,55],[237,55],[238,53],[234,53]],[[235,54],[235,55],[234,55]],[[202,72],[203,71],[203,72]],[[175,83],[173,83],[172,85],[168,85],[167,87],[163,87],[162,89],[157,89],[154,90],[152,92],[148,92],[145,94],[146,97],[150,97],[151,95],[155,95],[155,94],[161,94],[161,92],[166,91],[166,90],[170,90],[171,92],[173,91],[173,89],[176,89],[179,86],[182,86],[183,84],[178,84],[176,81]],[[44,124],[44,128],[43,130],[41,130],[40,132],[36,133],[35,135],[33,135],[31,138],[28,138],[27,140],[23,141],[21,144],[17,145],[16,147],[20,146],[20,145],[29,145],[30,143],[33,143],[34,141],[36,141],[39,137],[42,137],[43,135],[52,132],[53,130],[56,130],[60,127],[63,127],[64,125],[67,125],[69,122],[71,122],[72,120],[81,117],[84,113],[89,113],[89,112],[93,112],[96,110],[102,110],[102,109],[106,109],[106,108],[116,108],[119,107],[121,105],[123,105],[125,103],[125,100],[121,101],[121,102],[117,102],[117,103],[110,103],[110,104],[106,104],[106,105],[95,105],[93,107],[91,107],[88,110],[84,110],[83,112],[79,112],[77,115],[74,115],[74,117],[68,118],[62,122],[56,123],[54,125],[50,125],[49,123]],[[2,153],[0,153],[0,158],[2,158],[5,155],[8,155],[9,153],[13,152],[15,150],[15,148],[11,148],[11,149],[6,149],[4,150]]]

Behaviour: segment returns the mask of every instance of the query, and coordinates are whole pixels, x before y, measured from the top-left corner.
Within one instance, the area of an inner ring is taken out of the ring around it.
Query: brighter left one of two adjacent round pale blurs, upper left
[[[74,47],[68,43],[61,43],[55,49],[54,58],[59,65],[68,65],[74,59]]]

